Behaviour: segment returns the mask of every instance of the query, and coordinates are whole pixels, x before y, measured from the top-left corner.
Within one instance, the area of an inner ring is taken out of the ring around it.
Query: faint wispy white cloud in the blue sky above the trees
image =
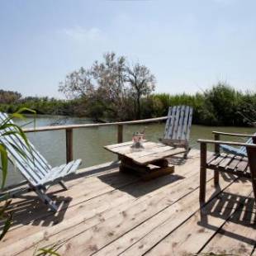
[[[81,26],[76,26],[73,28],[65,28],[62,32],[71,39],[81,42],[99,40],[102,36],[102,31],[97,27],[86,29]]]

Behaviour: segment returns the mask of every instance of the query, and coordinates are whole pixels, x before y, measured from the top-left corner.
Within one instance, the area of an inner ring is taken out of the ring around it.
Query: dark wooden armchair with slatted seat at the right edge
[[[230,173],[236,177],[249,178],[254,189],[254,199],[256,198],[256,136],[253,137],[253,144],[240,142],[230,142],[222,140],[197,140],[200,143],[200,195],[199,201],[205,203],[206,200],[206,169],[214,170],[214,183],[219,184],[220,172]],[[215,154],[207,159],[207,144],[215,145]],[[235,154],[220,154],[220,145],[245,147],[248,158]]]

